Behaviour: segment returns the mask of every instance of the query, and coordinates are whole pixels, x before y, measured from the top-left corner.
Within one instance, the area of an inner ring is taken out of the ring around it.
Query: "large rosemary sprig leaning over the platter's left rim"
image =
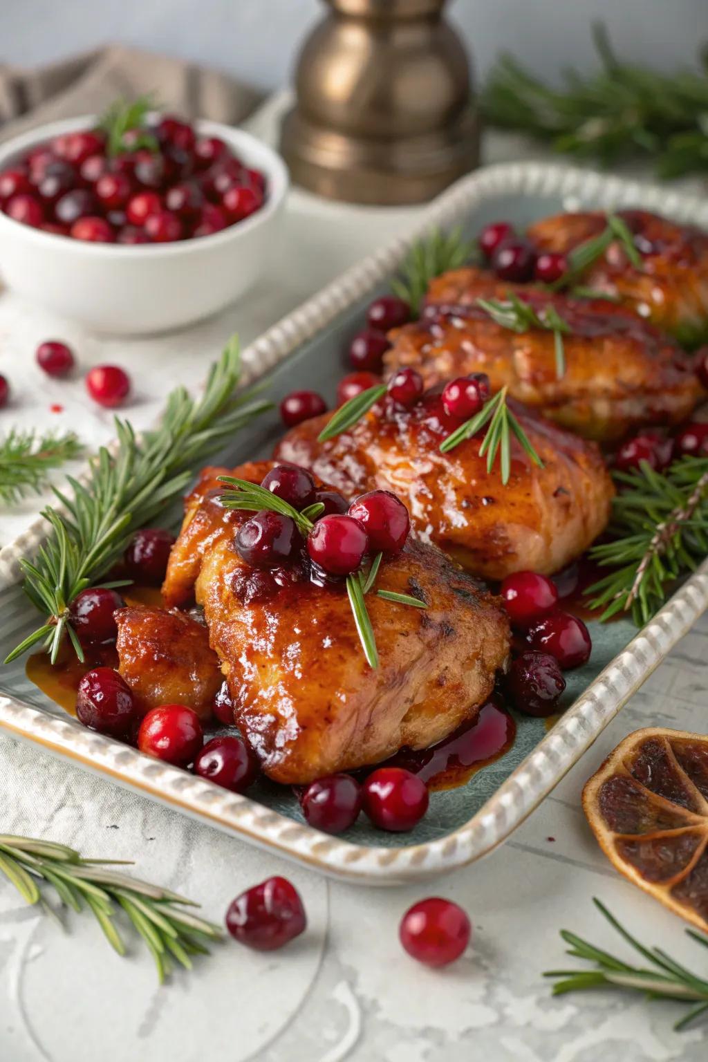
[[[5,663],[37,641],[45,643],[54,663],[65,635],[79,660],[84,660],[69,623],[73,599],[103,579],[137,528],[163,515],[182,496],[195,463],[218,452],[235,432],[271,408],[272,402],[256,399],[254,391],[235,394],[240,364],[239,343],[234,337],[211,366],[198,400],[184,388],[176,388],[168,397],[158,427],[140,439],[127,421],[116,419],[116,451],[102,447],[86,481],[68,478],[71,497],[54,490],[64,511],[51,507],[44,511],[52,525],[49,538],[35,561],[20,562],[24,590],[48,618]]]

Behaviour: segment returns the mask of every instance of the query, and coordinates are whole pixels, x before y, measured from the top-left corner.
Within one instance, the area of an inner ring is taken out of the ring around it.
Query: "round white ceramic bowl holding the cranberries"
[[[34,144],[89,129],[96,118],[52,122],[0,149],[0,170]],[[98,331],[140,335],[191,324],[228,306],[266,272],[281,233],[288,171],[248,133],[198,121],[267,182],[265,203],[236,225],[177,243],[89,243],[44,233],[0,212],[0,274],[19,295]]]

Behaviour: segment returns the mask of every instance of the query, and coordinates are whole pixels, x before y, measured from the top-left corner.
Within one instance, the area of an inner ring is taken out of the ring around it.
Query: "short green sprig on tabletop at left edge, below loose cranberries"
[[[51,468],[58,468],[82,451],[73,431],[15,431],[0,440],[0,501],[12,504],[30,491],[39,493]]]

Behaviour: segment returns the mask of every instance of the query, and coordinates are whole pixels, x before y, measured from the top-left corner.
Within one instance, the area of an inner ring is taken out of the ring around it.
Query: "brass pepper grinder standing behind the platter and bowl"
[[[351,203],[420,203],[473,169],[479,124],[446,0],[326,0],[280,149],[293,179]]]

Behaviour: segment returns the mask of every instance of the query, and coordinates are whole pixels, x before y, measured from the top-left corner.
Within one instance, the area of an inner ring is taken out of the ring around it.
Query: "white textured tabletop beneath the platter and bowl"
[[[257,123],[264,135],[272,116],[266,108]],[[0,372],[16,381],[12,423],[36,423],[37,407],[30,404],[40,381],[32,352],[50,335],[72,342],[85,365],[116,360],[128,366],[137,401],[126,413],[148,423],[169,387],[203,376],[230,331],[252,339],[415,213],[343,208],[295,193],[280,269],[267,287],[178,336],[106,341],[3,294]],[[55,396],[41,383],[48,419],[79,426],[88,443],[109,438],[109,417],[89,408],[80,386],[64,386]],[[51,414],[52,402],[65,412]],[[0,543],[35,510],[35,502],[28,504],[12,523],[2,514]],[[585,823],[580,792],[607,752],[639,726],[705,731],[707,656],[704,618],[510,841],[451,877],[408,889],[327,881],[0,737],[3,833],[50,837],[86,855],[134,858],[140,876],[201,901],[214,921],[243,888],[286,874],[309,919],[308,931],[282,952],[259,955],[227,943],[196,972],[177,974],[160,989],[137,944],[120,959],[91,919],[75,915],[62,932],[0,881],[0,1060],[595,1062],[604,1056],[703,1062],[708,1031],[674,1033],[675,1006],[608,992],[552,999],[541,973],[567,964],[562,927],[610,952],[625,950],[592,896],[646,943],[705,970],[683,923],[612,871]],[[430,894],[457,901],[473,923],[470,948],[446,971],[417,965],[397,940],[402,912]]]

